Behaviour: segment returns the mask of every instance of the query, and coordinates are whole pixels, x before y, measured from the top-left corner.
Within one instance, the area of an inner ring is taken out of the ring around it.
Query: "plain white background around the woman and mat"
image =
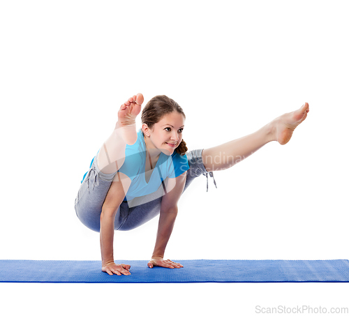
[[[310,105],[285,146],[215,172],[208,193],[205,176],[195,179],[166,258],[349,259],[348,13],[347,1],[2,1],[0,259],[101,259],[74,200],[119,106],[138,92],[144,105],[159,94],[181,105],[189,150]],[[150,259],[156,229],[157,218],[115,232],[115,259]],[[0,289],[11,315],[349,307],[345,283]]]

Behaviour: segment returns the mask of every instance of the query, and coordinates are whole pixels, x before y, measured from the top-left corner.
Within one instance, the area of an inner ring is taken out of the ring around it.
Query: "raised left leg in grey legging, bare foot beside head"
[[[82,182],[75,199],[75,211],[81,222],[91,230],[99,232],[102,206],[117,170],[125,160],[126,144],[137,140],[135,117],[143,103],[142,93],[129,98],[121,105],[118,121],[112,135],[103,144]],[[116,216],[118,226],[119,216]]]

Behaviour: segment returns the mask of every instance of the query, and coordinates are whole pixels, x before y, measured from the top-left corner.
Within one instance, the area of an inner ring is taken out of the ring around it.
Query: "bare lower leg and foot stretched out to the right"
[[[308,112],[309,104],[305,103],[299,110],[279,116],[255,133],[204,149],[202,160],[207,172],[228,169],[268,142],[287,144],[295,128],[306,119]]]

